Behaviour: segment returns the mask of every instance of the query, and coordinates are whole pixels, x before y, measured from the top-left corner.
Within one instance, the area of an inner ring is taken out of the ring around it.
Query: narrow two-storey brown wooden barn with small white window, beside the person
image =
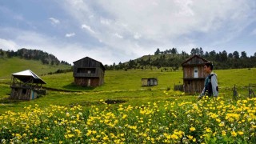
[[[194,55],[182,62],[183,85],[185,93],[201,93],[204,87],[206,73],[203,70],[206,59]]]

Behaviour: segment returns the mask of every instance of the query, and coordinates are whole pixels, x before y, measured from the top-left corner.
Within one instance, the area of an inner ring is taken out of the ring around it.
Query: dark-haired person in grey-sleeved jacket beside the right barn
[[[206,74],[208,76],[205,79],[205,85],[202,90],[202,93],[198,96],[198,99],[201,99],[203,96],[208,96],[214,98],[218,97],[218,80],[217,80],[217,74],[213,72],[214,66],[211,62],[206,62],[203,66],[203,69],[205,70]]]

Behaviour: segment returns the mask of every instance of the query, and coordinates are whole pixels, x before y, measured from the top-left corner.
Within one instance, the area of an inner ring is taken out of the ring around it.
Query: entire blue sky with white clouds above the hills
[[[256,52],[254,0],[0,0],[0,48],[73,63],[127,62],[176,47]]]

